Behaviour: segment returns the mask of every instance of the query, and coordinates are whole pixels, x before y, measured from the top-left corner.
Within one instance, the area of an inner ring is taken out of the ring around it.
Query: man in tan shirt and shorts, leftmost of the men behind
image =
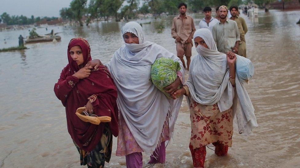
[[[184,68],[185,62],[183,56],[187,58],[187,69],[189,70],[191,62],[191,49],[193,47],[192,38],[196,31],[194,19],[186,14],[187,4],[180,3],[178,5],[179,16],[174,17],[171,29],[171,35],[176,43],[177,57],[180,58]]]

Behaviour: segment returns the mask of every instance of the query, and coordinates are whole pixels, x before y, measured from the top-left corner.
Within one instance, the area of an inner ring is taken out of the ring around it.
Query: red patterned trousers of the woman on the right
[[[212,143],[215,146],[215,154],[218,156],[224,156],[227,154],[228,147],[220,144],[219,142]],[[196,149],[193,149],[191,144],[189,145],[191,150],[191,155],[193,159],[194,167],[204,167],[205,156],[206,156],[206,146],[202,146]]]

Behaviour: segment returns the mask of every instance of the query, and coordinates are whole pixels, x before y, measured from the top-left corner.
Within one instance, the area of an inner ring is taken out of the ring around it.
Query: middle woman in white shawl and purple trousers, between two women
[[[126,165],[130,168],[142,167],[141,152],[151,155],[148,163],[163,163],[166,141],[172,137],[183,96],[169,100],[159,91],[151,80],[151,65],[161,57],[180,63],[177,79],[164,88],[170,94],[179,85],[183,86],[184,68],[177,56],[156,43],[145,41],[140,24],[124,24],[121,35],[124,45],[105,64],[118,90],[120,113],[116,155],[126,156]],[[95,63],[97,60],[87,66]]]

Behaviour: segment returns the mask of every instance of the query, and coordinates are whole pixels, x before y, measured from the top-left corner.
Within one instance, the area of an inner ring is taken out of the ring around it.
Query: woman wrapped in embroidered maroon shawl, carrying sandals
[[[101,167],[104,161],[109,162],[112,135],[118,135],[117,90],[104,65],[92,71],[92,67],[84,67],[91,60],[90,46],[85,39],[71,39],[68,60],[69,64],[62,70],[54,92],[65,106],[68,132],[80,153],[80,164]],[[109,116],[111,122],[94,125],[82,121],[75,112],[85,105],[85,111]]]

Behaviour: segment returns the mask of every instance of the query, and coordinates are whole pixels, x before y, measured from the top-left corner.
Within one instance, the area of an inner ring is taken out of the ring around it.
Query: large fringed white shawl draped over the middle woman
[[[145,41],[140,24],[129,22],[121,30],[131,32],[139,38],[139,44],[127,44],[120,47],[109,63],[105,64],[118,89],[117,104],[137,144],[147,154],[152,154],[158,144],[168,114],[169,133],[173,135],[183,96],[169,100],[152,83],[151,65],[157,58],[171,58],[180,63],[180,72],[184,77],[184,68],[180,59],[156,43]]]

